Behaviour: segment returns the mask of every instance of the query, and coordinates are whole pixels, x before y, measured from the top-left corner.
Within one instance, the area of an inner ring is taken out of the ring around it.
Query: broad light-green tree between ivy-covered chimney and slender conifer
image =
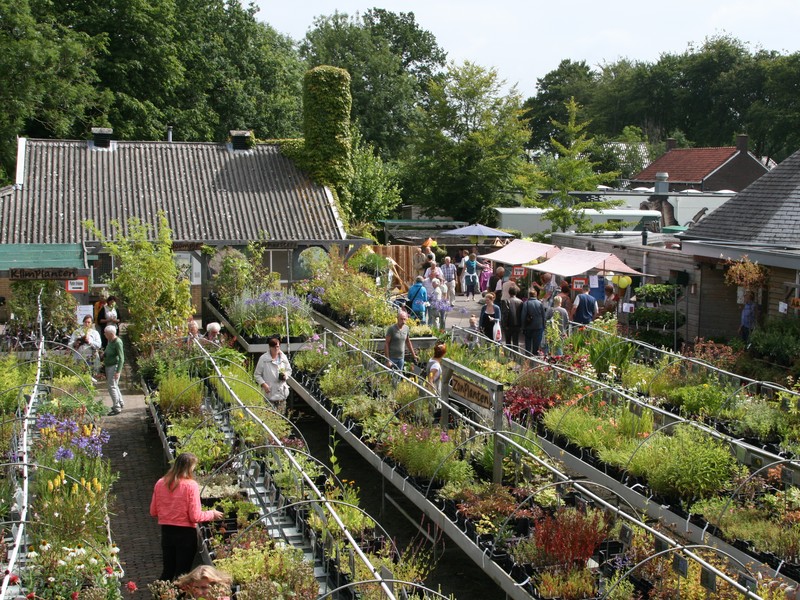
[[[452,64],[431,83],[429,101],[412,123],[403,161],[404,196],[430,215],[493,223],[495,206],[535,177],[524,144],[521,98],[495,69]]]

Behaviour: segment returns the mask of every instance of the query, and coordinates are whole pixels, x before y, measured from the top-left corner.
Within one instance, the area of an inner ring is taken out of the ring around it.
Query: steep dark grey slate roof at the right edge
[[[800,151],[681,237],[800,247]]]

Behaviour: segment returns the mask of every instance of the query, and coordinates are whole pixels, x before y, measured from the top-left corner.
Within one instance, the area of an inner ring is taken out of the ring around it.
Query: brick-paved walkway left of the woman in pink
[[[105,383],[98,388],[105,405],[110,407]],[[125,569],[123,587],[128,581],[139,587],[135,594],[123,591],[124,595],[149,599],[147,584],[161,574],[160,531],[150,517],[150,497],[167,466],[158,435],[148,425],[144,396],[130,385],[127,377],[123,377],[122,397],[125,400],[122,413],[103,419],[103,427],[110,434],[106,455],[112,471],[119,475],[112,488],[111,533]]]

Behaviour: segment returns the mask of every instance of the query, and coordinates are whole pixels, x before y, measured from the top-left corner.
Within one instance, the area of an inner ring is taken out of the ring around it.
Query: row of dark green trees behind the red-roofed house
[[[748,133],[756,155],[782,160],[800,147],[800,53],[752,52],[731,36],[711,37],[653,63],[621,59],[597,70],[562,61],[538,80],[525,102],[528,147],[553,151],[550,119],[563,122],[563,102],[575,97],[587,133],[616,140],[640,128],[655,146],[682,131],[695,146],[733,145]]]

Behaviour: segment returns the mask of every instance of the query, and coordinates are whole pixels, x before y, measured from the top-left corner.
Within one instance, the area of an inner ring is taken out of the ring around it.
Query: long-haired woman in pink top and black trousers
[[[150,515],[161,525],[161,552],[164,581],[175,579],[192,569],[197,554],[197,524],[222,518],[218,510],[202,510],[200,488],[194,480],[197,457],[179,454],[167,474],[156,482]]]

